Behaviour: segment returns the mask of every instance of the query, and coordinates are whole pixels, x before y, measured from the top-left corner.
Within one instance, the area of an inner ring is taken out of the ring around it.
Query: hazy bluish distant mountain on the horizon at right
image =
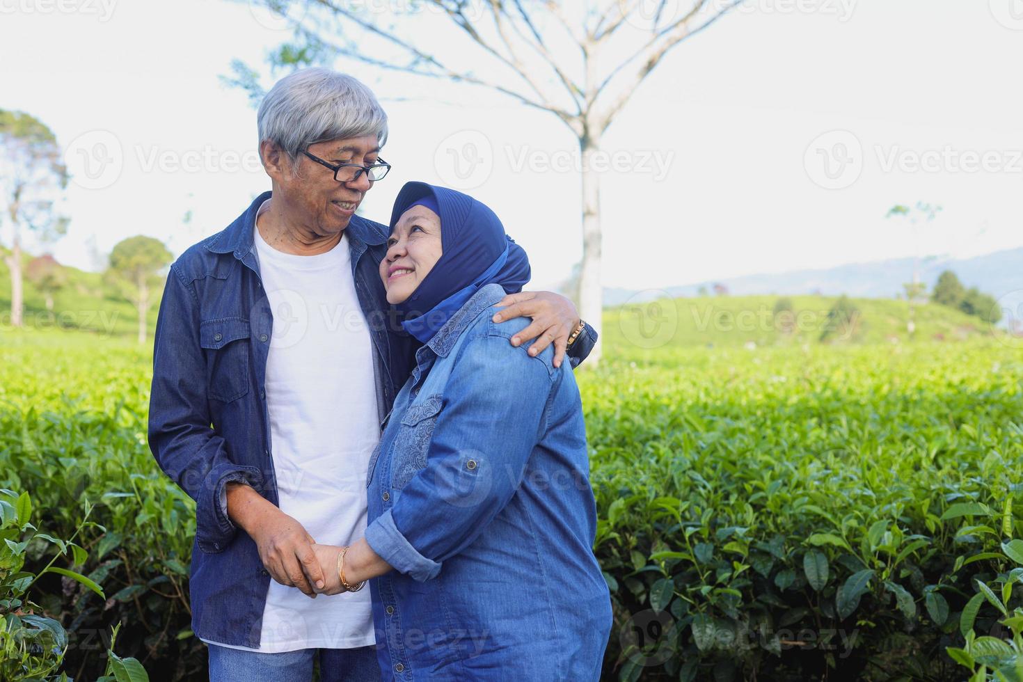
[[[921,279],[928,289],[934,286],[943,270],[953,271],[966,286],[998,299],[1004,308],[1023,317],[1023,248],[994,252],[969,259],[927,257],[920,266]],[[913,259],[893,259],[873,263],[853,263],[824,270],[793,270],[777,274],[746,275],[715,281],[670,286],[663,290],[635,291],[609,288],[604,291],[605,306],[640,303],[662,298],[695,297],[701,287],[713,292],[714,284],[724,285],[728,293],[837,295],[847,293],[859,298],[892,299],[904,295],[902,284],[913,279]],[[1006,315],[1009,317],[1009,315]]]

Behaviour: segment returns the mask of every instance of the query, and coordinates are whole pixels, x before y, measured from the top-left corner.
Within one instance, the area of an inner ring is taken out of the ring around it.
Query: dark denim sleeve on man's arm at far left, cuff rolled
[[[235,464],[211,427],[206,362],[198,342],[198,301],[174,266],[157,317],[148,442],[157,463],[195,500],[195,539],[208,553],[237,534],[223,504],[228,483],[263,486],[254,466]]]

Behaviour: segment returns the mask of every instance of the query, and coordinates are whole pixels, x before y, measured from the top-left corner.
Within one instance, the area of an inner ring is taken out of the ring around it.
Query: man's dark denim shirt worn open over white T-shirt
[[[256,543],[231,524],[219,500],[228,483],[244,482],[278,504],[264,388],[273,317],[253,241],[256,213],[270,194],[256,197],[227,229],[189,247],[171,266],[157,320],[149,399],[149,448],[195,500],[192,630],[203,639],[252,648],[260,644],[270,575]],[[359,216],[346,228],[355,290],[372,337],[382,415],[419,347],[407,334],[389,332],[393,318],[379,273],[388,233]],[[595,340],[587,327],[572,347],[573,366]],[[344,418],[344,408],[338,416]]]

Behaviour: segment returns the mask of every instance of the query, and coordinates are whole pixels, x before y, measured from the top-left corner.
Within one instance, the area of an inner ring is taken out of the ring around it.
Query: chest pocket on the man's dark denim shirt
[[[198,345],[206,351],[207,395],[229,403],[249,393],[249,344],[243,317],[221,317],[198,323]]]

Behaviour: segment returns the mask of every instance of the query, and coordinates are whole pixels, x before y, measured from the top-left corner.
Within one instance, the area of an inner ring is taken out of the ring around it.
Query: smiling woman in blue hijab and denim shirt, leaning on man
[[[579,391],[550,350],[494,322],[529,277],[497,217],[406,184],[381,278],[424,347],[369,464],[369,525],[327,590],[371,582],[377,658],[396,680],[596,680],[611,629]]]

